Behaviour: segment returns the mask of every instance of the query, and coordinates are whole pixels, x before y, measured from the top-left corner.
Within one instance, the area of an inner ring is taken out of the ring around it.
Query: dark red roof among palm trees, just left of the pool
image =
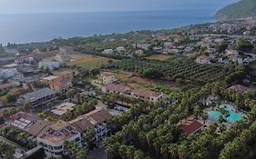
[[[203,127],[203,125],[204,124],[200,124],[200,122],[197,120],[191,119],[180,124],[180,128],[184,131],[185,134],[189,135],[196,133],[198,130],[200,130],[200,128]]]

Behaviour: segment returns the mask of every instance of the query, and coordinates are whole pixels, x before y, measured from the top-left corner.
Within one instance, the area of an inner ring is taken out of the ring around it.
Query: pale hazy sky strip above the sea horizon
[[[213,8],[214,5],[218,9],[234,1],[237,0],[0,0],[0,13],[174,10],[188,9],[192,5],[198,5],[201,9],[207,9],[210,5]]]

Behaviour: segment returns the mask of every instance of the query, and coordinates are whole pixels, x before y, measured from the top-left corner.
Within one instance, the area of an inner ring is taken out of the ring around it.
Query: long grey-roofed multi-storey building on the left
[[[57,99],[56,92],[50,88],[39,89],[35,92],[23,94],[19,98],[20,104],[30,104],[32,109],[41,108],[48,103],[55,102]]]

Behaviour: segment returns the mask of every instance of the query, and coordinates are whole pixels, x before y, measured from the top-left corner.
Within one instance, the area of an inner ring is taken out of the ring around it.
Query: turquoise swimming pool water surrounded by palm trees
[[[220,108],[225,108],[227,111],[229,111],[230,116],[226,118],[229,123],[240,121],[243,117],[241,114],[233,112],[232,107],[228,104],[221,104]],[[213,120],[218,120],[221,115],[219,111],[210,111],[208,114],[210,119]]]

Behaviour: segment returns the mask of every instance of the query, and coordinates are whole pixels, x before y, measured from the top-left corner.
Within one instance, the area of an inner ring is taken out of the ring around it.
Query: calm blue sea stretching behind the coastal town
[[[0,44],[44,42],[58,37],[106,35],[202,24],[215,21],[213,15],[219,8],[214,6],[162,11],[0,14]]]

